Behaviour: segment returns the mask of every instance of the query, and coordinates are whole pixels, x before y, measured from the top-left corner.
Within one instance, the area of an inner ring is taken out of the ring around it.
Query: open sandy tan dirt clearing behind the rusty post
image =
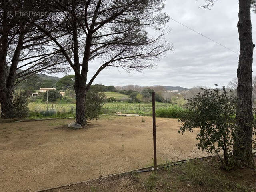
[[[142,119],[145,122],[142,122]],[[102,116],[87,129],[69,119],[0,123],[0,191],[35,191],[152,165],[151,117]],[[158,164],[208,154],[176,119],[156,118]]]

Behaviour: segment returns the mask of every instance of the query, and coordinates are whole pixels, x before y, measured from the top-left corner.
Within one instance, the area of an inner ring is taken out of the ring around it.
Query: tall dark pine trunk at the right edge
[[[234,157],[242,164],[254,166],[252,156],[252,23],[250,0],[239,0],[239,21],[237,24],[240,55],[237,69],[237,113]]]

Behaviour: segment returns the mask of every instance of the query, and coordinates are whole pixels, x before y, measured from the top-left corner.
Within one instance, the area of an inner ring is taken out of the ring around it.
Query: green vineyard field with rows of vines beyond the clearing
[[[32,112],[41,112],[47,110],[46,103],[36,103],[31,102],[28,104],[29,109]],[[168,103],[158,103],[156,102],[156,109],[158,108],[167,108],[168,106],[172,106],[172,104]],[[76,104],[73,103],[56,103],[56,104],[48,104],[48,110],[54,110],[59,112],[70,112],[74,111],[76,108]],[[106,103],[103,107],[103,112],[114,113],[114,112],[122,112],[122,113],[150,113],[152,111],[151,103],[127,103],[127,102],[113,102]]]

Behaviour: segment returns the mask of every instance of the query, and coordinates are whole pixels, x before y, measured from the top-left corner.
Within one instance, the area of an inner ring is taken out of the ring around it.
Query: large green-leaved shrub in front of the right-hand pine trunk
[[[232,162],[236,98],[230,96],[224,86],[221,93],[218,88],[202,88],[202,91],[187,99],[188,110],[178,120],[182,123],[178,132],[183,134],[200,128],[196,137],[198,149],[216,152],[223,166],[228,168]],[[222,152],[224,158],[221,157]]]

